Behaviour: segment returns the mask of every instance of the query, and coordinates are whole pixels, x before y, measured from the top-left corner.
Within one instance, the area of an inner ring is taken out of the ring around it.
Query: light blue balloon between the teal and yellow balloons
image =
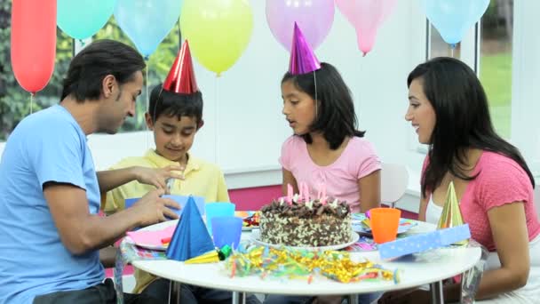
[[[179,20],[182,0],[118,0],[115,19],[143,56],[148,57]]]

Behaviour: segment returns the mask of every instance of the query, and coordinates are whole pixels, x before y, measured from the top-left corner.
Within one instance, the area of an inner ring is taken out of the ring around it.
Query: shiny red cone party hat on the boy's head
[[[163,90],[182,94],[192,94],[199,91],[187,40],[182,44],[169,75],[163,82]]]

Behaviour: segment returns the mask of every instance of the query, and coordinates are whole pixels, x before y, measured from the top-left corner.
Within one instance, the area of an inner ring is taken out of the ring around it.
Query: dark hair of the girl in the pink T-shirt
[[[318,115],[310,131],[322,132],[331,149],[339,148],[346,136],[364,136],[365,132],[356,130],[357,119],[351,91],[339,75],[338,69],[330,63],[322,62],[321,68],[314,73],[301,75],[286,73],[282,78],[282,84],[287,81],[291,81],[298,90],[306,92],[318,102]],[[309,132],[302,137],[308,144],[313,142]]]

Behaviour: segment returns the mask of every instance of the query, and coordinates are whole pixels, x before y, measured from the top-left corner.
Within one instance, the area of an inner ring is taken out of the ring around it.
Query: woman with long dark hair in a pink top
[[[540,224],[533,202],[535,180],[520,151],[496,134],[479,79],[459,60],[436,58],[417,66],[407,84],[405,119],[416,129],[418,141],[430,145],[421,180],[420,220],[426,219],[426,211],[433,222],[439,219],[453,181],[473,238],[493,252],[494,262],[488,260],[476,299],[537,303]],[[414,293],[414,302],[421,303],[416,297],[422,292]],[[445,298],[459,300],[459,286],[447,286]]]

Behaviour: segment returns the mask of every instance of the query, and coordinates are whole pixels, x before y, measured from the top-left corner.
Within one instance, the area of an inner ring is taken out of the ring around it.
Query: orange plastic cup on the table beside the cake
[[[395,240],[400,225],[401,210],[395,208],[373,208],[370,211],[371,232],[377,244]]]

